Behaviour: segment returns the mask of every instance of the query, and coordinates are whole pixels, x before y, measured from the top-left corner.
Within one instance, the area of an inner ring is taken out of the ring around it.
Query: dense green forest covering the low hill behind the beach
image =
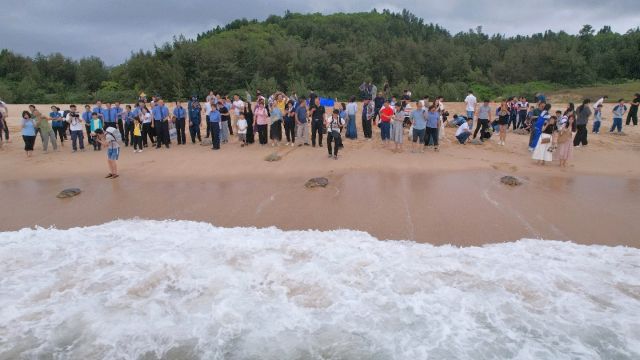
[[[235,20],[137,51],[117,66],[60,53],[0,51],[0,99],[9,103],[130,102],[139,92],[174,100],[209,90],[276,90],[345,99],[363,81],[393,94],[460,101],[531,95],[559,86],[640,79],[640,29],[624,34],[584,25],[578,34],[544,31],[451,34],[403,10],[332,15],[286,12],[264,21]]]

